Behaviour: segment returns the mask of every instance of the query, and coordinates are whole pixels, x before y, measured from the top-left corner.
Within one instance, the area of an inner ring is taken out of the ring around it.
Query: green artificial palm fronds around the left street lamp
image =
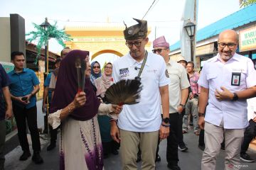
[[[72,40],[70,38],[70,35],[65,33],[64,29],[58,30],[57,22],[55,22],[53,26],[49,26],[46,30],[41,26],[37,25],[36,23],[33,23],[33,26],[34,28],[36,28],[36,31],[31,31],[27,33],[26,36],[30,37],[26,40],[28,42],[37,42],[36,48],[38,50],[38,55],[36,56],[35,63],[38,62],[38,57],[40,57],[41,55],[41,48],[47,44],[50,38],[54,38],[55,40],[57,40],[57,42],[63,47],[65,47],[64,40]]]

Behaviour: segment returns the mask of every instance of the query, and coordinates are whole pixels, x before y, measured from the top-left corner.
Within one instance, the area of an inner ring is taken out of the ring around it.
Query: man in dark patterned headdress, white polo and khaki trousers
[[[129,53],[114,62],[113,74],[115,82],[134,79],[146,58],[140,77],[143,86],[141,98],[137,104],[124,105],[118,123],[111,122],[111,135],[117,142],[121,140],[122,169],[137,169],[137,152],[140,149],[142,169],[153,170],[158,138],[165,139],[169,135],[169,79],[164,59],[145,50],[149,41],[146,21],[134,20],[138,24],[124,30]],[[161,103],[164,121],[161,119]]]

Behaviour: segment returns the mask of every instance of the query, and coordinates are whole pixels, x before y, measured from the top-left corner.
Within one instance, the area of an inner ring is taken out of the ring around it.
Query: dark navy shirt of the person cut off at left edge
[[[9,84],[9,78],[4,70],[4,67],[0,64],[0,120],[4,120],[6,113],[2,89],[6,86],[9,86]]]

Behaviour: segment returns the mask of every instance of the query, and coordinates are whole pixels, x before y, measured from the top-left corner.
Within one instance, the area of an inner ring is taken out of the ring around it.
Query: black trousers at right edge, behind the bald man
[[[256,136],[256,123],[253,122],[253,120],[251,119],[249,121],[249,126],[245,129],[245,136],[241,145],[241,152],[240,152],[241,154],[245,154],[245,152],[247,152],[250,142],[255,136]]]

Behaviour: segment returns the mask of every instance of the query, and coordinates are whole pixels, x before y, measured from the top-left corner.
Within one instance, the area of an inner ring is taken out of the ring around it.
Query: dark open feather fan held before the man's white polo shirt
[[[122,106],[139,103],[140,92],[142,91],[141,82],[137,79],[127,79],[112,84],[105,93],[109,103]]]

